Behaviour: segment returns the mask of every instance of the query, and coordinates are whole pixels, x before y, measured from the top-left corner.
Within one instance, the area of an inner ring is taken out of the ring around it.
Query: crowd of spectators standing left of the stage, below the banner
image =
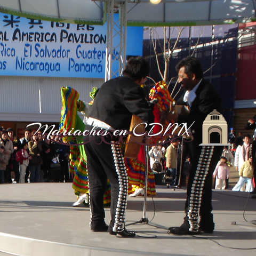
[[[70,181],[69,146],[61,138],[25,129],[19,139],[12,128],[0,126],[0,183]]]

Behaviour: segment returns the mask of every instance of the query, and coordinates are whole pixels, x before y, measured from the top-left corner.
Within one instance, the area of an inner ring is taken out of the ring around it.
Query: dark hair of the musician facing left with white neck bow
[[[185,74],[188,76],[192,73],[196,75],[196,78],[203,78],[204,76],[201,62],[195,57],[186,57],[175,66],[177,72],[179,72],[182,67],[185,67]]]

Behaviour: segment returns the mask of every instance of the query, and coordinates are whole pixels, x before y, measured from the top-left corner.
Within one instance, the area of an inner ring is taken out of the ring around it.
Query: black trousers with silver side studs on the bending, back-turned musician
[[[90,131],[86,125],[85,130]],[[128,180],[121,146],[113,134],[85,135],[84,147],[87,157],[89,175],[90,210],[92,225],[105,223],[103,209],[103,195],[106,191],[106,182],[111,184],[110,228],[114,231],[123,231],[125,225],[125,209],[127,204]]]

